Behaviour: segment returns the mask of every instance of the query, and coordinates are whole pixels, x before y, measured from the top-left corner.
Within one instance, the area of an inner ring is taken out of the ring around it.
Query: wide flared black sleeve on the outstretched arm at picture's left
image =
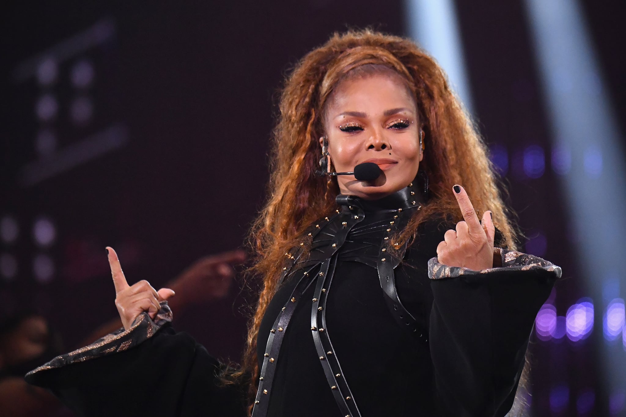
[[[244,417],[245,394],[218,380],[217,359],[172,328],[167,302],[154,320],[143,313],[89,346],[26,374],[78,416]]]

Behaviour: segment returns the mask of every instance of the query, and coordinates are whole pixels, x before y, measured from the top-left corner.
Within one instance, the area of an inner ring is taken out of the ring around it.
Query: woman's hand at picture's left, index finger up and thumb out
[[[156,291],[145,279],[131,286],[126,282],[126,277],[121,271],[120,259],[110,246],[106,247],[113,285],[115,285],[115,306],[120,313],[121,323],[126,330],[137,316],[148,311],[151,319],[155,318],[160,307],[160,302],[173,296],[175,293],[170,288],[162,288]]]

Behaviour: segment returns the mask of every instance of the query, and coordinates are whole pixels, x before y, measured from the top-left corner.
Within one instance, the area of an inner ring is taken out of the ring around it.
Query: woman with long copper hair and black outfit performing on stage
[[[367,181],[332,175],[368,162]],[[124,328],[28,381],[81,415],[508,412],[561,270],[510,250],[485,145],[433,59],[372,31],[307,54],[282,93],[269,195],[240,369],[173,331],[172,291],[128,286],[108,248]]]

